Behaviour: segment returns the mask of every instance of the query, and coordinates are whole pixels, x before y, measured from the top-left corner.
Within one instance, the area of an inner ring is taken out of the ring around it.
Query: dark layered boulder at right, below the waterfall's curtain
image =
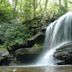
[[[61,48],[56,49],[53,57],[61,61],[57,64],[72,64],[72,43],[64,44]]]

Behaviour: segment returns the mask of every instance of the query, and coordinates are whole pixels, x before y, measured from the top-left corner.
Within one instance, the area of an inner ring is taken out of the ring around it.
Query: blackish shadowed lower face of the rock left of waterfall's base
[[[16,56],[16,62],[17,63],[24,63],[24,64],[29,64],[33,63],[35,59],[37,58],[38,54],[20,54]]]

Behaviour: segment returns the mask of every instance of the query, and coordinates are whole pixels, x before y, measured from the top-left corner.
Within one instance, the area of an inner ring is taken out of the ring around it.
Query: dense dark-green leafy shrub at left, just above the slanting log
[[[19,23],[1,23],[0,25],[0,39],[5,41],[4,45],[6,47],[16,43],[24,43],[31,36],[32,33],[26,25]]]

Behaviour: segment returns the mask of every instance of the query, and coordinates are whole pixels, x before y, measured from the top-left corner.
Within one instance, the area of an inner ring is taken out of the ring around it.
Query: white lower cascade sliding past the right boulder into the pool
[[[56,51],[56,49],[58,48],[62,48],[64,46],[68,46],[71,45],[72,42],[71,41],[66,41],[66,42],[62,42],[61,44],[59,44],[58,46],[56,46],[55,48],[51,48],[48,51],[45,51],[39,58],[38,58],[38,65],[54,65],[56,64],[56,62],[61,62],[60,60],[56,60],[53,57],[54,52]]]

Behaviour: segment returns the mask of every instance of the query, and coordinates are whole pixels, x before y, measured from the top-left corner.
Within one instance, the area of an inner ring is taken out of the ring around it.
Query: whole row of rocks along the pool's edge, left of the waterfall
[[[0,66],[27,65],[35,61],[41,54],[35,48],[21,48],[10,54],[8,51],[0,52]]]

